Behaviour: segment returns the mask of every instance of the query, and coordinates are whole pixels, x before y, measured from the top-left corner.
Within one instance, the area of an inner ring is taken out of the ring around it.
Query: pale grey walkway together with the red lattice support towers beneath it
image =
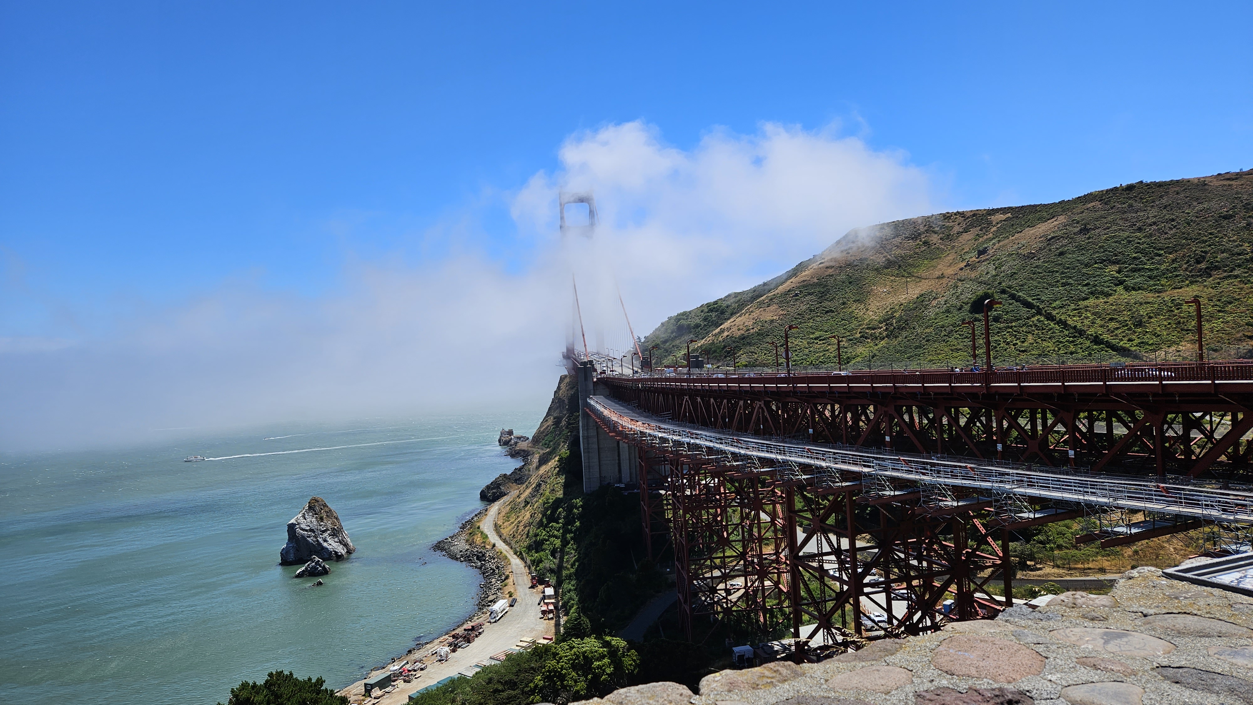
[[[673,550],[689,640],[725,619],[836,645],[995,616],[1012,604],[1011,533],[1055,521],[1084,520],[1076,542],[1101,547],[1208,526],[1219,551],[1253,525],[1253,491],[1218,480],[804,442],[608,396],[583,411],[634,448],[649,553]]]

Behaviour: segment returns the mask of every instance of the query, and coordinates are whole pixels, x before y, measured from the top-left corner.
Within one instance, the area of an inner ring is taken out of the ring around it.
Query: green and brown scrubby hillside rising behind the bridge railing
[[[985,249],[986,248],[986,249]],[[942,213],[850,232],[784,274],[658,326],[658,363],[969,364],[976,301],[995,293],[999,364],[1253,357],[1253,172],[1135,183],[1060,203]],[[980,318],[981,321],[981,318]],[[980,336],[981,337],[981,336]],[[982,343],[980,342],[980,358]]]

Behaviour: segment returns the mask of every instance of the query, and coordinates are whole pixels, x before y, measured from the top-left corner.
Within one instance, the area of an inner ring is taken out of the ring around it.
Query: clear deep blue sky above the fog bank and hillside
[[[687,155],[771,125],[851,138],[925,180],[883,217],[1248,168],[1249,26],[1247,3],[5,1],[0,338],[318,306],[358,267],[523,274],[544,223],[519,194],[635,121]],[[817,250],[743,249],[708,289],[632,291],[668,297],[639,327]]]

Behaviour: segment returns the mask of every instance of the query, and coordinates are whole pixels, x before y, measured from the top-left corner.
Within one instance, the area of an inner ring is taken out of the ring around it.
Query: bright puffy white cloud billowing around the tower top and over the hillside
[[[549,242],[558,189],[593,190],[601,227],[568,255],[596,279],[611,269],[647,329],[773,277],[852,228],[932,209],[930,179],[905,154],[834,130],[719,129],[684,152],[635,121],[571,136],[560,160],[517,194],[515,219]]]

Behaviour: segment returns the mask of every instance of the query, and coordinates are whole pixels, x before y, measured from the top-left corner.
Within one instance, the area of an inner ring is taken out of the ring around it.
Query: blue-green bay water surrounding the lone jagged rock
[[[276,425],[0,455],[0,702],[213,705],[278,669],[357,680],[472,612],[479,574],[431,543],[516,467],[500,427],[538,421]],[[278,565],[313,495],[357,547],[321,587]]]

